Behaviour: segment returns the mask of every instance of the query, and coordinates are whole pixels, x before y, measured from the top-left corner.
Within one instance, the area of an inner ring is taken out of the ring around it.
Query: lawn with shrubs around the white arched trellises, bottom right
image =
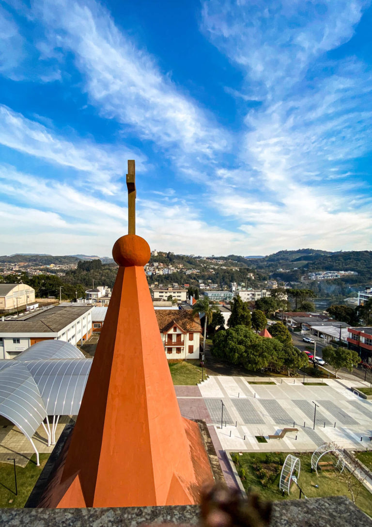
[[[234,455],[234,454],[233,454]],[[240,467],[237,467],[238,471],[243,468],[245,471],[245,480],[242,480],[245,490],[258,493],[263,499],[269,501],[278,500],[296,500],[299,497],[298,487],[293,484],[291,486],[290,494],[281,495],[279,491],[279,479],[281,466],[286,458],[286,453],[270,452],[270,453],[243,453],[241,456],[237,456]],[[299,457],[301,462],[301,469],[298,478],[298,484],[307,497],[322,497],[322,496],[340,496],[344,495],[350,497],[347,490],[346,484],[340,480],[339,473],[336,471],[322,471],[317,476],[315,473],[311,473],[311,453],[293,453],[293,455]],[[269,456],[269,463],[265,463]],[[271,461],[270,461],[271,457]],[[325,460],[327,461],[327,460]],[[253,464],[256,463],[256,470]],[[262,472],[257,475],[258,469],[266,472]],[[345,469],[346,470],[346,469]],[[261,481],[268,479],[267,486],[264,487]],[[315,485],[318,485],[316,489]],[[366,512],[369,516],[372,516],[372,496],[370,493],[362,487],[357,499],[358,507]]]

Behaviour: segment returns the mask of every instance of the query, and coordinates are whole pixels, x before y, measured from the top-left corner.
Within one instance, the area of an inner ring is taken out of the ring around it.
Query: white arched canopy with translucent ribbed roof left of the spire
[[[43,340],[14,359],[0,360],[0,415],[32,440],[42,424],[48,446],[55,443],[60,415],[77,415],[92,359],[62,340]],[[47,416],[53,416],[52,430]],[[46,426],[44,419],[46,418]]]

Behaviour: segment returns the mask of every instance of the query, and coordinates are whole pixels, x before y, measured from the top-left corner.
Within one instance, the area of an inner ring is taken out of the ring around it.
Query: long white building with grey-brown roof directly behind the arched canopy
[[[16,357],[42,340],[64,340],[76,346],[92,335],[92,310],[91,306],[56,306],[0,321],[0,358]]]

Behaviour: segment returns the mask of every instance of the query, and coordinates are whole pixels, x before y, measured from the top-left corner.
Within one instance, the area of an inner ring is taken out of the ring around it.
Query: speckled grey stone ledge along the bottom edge
[[[102,509],[0,509],[7,527],[136,527],[140,524],[196,525],[199,506]],[[345,496],[273,503],[270,527],[372,527],[372,520]]]

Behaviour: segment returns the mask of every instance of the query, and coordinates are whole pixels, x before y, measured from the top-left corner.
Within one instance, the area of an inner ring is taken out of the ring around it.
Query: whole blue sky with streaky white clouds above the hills
[[[0,2],[0,253],[372,249],[372,7]]]

